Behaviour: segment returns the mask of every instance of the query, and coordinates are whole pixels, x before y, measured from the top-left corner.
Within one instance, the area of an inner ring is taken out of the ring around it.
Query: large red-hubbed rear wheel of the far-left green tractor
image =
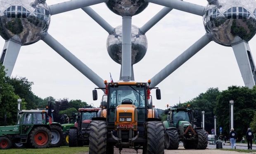
[[[52,142],[52,133],[46,127],[36,127],[29,134],[29,142],[33,148],[46,148]]]

